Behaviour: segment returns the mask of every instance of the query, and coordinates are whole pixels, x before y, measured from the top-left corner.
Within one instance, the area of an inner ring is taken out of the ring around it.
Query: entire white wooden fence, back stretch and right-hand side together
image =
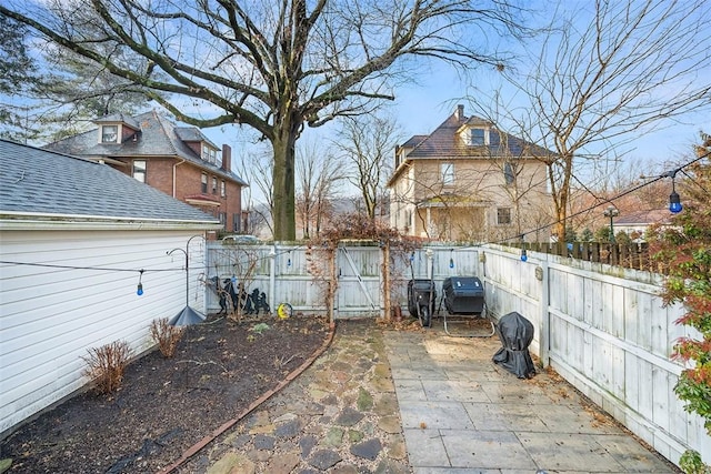
[[[234,248],[211,243],[204,274],[239,279],[247,260],[257,261],[248,291],[264,292],[271,307],[288,302],[296,312],[327,312],[319,281],[309,273],[318,249],[299,245]],[[383,249],[377,244],[338,250],[337,319],[383,316]],[[698,415],[689,414],[673,386],[682,366],[671,361],[674,341],[684,327],[674,324],[679,305],[664,307],[658,296],[661,276],[601,263],[577,261],[518,249],[428,246],[411,254],[391,253],[394,272],[391,301],[407,314],[407,282],[435,281],[438,307],[448,276],[478,276],[484,282],[488,314],[494,320],[515,311],[535,326],[530,346],[575,389],[614,416],[631,432],[673,463],[687,448],[711,463],[711,437]],[[217,312],[213,292],[208,311]],[[437,314],[435,314],[437,316]]]

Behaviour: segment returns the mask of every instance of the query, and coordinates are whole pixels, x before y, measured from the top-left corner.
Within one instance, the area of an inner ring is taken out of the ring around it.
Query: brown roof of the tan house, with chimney
[[[464,117],[463,107],[452,113],[442,124],[440,124],[429,135],[414,135],[407,143],[413,150],[408,153],[408,159],[421,158],[468,158],[468,159],[488,159],[488,158],[529,158],[547,157],[552,152],[542,147],[529,143],[510,133],[501,132],[501,143],[508,145],[508,150],[499,145],[470,145],[459,132],[464,128],[487,127],[495,130],[495,127],[479,117]],[[405,147],[405,145],[403,145]]]

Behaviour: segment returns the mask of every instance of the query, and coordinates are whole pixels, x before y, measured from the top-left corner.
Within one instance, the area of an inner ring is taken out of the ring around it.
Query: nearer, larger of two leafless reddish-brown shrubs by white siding
[[[131,359],[131,349],[126,341],[114,341],[101,347],[89,349],[89,356],[82,357],[89,365],[83,374],[94,382],[97,392],[116,392],[123,381],[123,372]]]

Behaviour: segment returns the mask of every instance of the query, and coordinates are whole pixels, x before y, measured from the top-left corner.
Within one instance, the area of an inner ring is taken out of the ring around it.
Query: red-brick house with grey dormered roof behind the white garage
[[[96,120],[97,129],[50,143],[48,150],[101,161],[242,232],[242,186],[231,149],[219,150],[194,127],[176,127],[156,111]],[[220,158],[221,154],[221,158]]]

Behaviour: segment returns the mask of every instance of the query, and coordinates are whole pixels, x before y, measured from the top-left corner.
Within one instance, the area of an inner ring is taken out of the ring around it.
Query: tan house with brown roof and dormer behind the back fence
[[[550,222],[551,152],[457,110],[429,135],[395,148],[390,224],[431,240],[518,240]],[[549,231],[525,240],[548,240]]]

